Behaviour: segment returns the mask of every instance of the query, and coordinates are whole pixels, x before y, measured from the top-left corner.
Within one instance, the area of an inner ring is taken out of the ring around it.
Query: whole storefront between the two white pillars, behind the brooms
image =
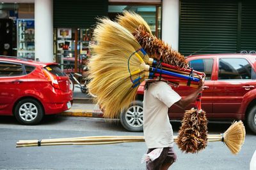
[[[115,19],[124,10],[139,13],[150,25],[152,32],[161,38],[161,2],[125,1],[53,1],[54,58],[67,73],[86,73],[91,57],[93,27],[97,17]]]

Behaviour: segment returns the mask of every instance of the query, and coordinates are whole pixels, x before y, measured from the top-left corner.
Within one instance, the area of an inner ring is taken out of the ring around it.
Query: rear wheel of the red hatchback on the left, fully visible
[[[35,99],[22,99],[16,104],[14,115],[20,124],[35,125],[41,122],[44,110]]]

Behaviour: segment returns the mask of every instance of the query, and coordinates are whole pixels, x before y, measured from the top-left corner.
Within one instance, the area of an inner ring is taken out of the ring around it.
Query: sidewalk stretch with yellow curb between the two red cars
[[[60,115],[68,117],[103,117],[103,113],[100,111],[99,106],[92,102],[92,97],[88,94],[83,94],[80,89],[74,89],[73,100],[72,107],[69,110],[60,113]]]

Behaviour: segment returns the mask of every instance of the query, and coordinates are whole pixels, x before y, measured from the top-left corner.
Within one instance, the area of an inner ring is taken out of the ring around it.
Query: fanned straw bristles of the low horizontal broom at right
[[[223,134],[224,143],[233,154],[237,154],[244,143],[245,128],[243,122],[234,122]]]

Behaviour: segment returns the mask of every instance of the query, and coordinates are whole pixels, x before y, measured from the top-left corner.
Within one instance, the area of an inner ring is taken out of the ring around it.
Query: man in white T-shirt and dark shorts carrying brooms
[[[173,104],[185,109],[204,89],[200,79],[198,89],[187,97],[180,97],[168,81],[148,80],[143,100],[143,131],[148,147],[144,157],[148,170],[168,169],[176,160],[173,150],[173,130],[168,118],[168,108]]]

